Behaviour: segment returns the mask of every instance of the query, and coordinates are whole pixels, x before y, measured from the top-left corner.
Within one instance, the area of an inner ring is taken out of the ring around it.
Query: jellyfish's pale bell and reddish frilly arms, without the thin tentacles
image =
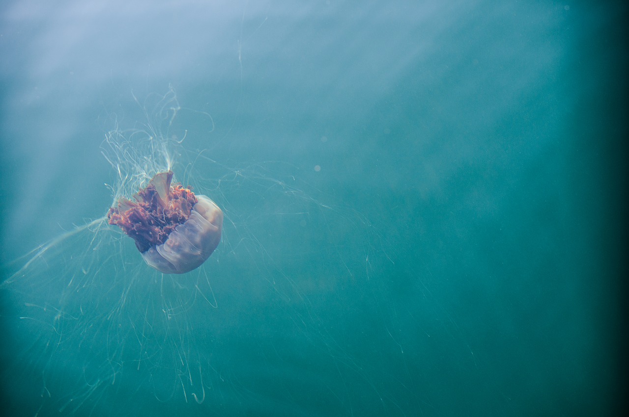
[[[171,185],[173,172],[157,173],[132,200],[121,197],[109,208],[109,224],[135,241],[151,268],[184,274],[199,268],[221,241],[223,212],[191,188]]]

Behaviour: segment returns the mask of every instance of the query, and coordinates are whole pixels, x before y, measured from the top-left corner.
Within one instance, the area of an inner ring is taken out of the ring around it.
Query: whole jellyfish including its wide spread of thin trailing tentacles
[[[369,223],[319,202],[290,164],[210,158],[198,146],[211,117],[174,91],[141,109],[146,120],[116,119],[101,143],[113,169],[91,194],[103,195],[95,217],[9,264],[6,396],[30,415],[268,414],[260,398],[319,389],[267,389],[304,372],[295,357],[324,352],[313,363],[333,370],[326,389],[363,378],[318,313],[376,263]]]

